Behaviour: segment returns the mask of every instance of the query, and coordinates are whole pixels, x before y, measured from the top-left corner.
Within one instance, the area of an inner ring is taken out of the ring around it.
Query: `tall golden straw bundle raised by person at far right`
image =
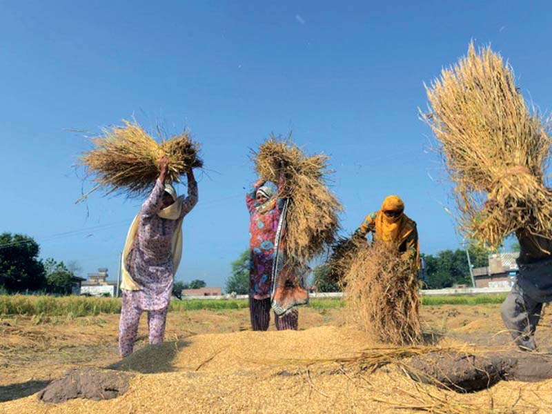
[[[462,233],[491,248],[519,228],[551,237],[548,126],[529,113],[511,67],[472,43],[426,91],[431,108],[423,117],[455,184]]]

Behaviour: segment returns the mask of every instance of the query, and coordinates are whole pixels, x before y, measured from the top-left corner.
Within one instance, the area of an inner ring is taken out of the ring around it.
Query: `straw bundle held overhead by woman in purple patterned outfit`
[[[199,146],[182,132],[158,143],[136,123],[124,121],[125,126],[103,130],[103,137],[92,139],[95,148],[80,157],[87,175],[93,177],[96,188],[106,193],[122,192],[129,196],[148,193],[159,177],[159,159],[168,158],[166,181],[179,177],[192,168],[201,168]]]

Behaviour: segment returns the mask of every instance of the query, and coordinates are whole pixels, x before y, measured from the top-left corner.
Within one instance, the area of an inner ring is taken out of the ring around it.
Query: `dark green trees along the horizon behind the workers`
[[[512,246],[513,250],[519,246]],[[489,266],[489,252],[475,245],[469,246],[473,267]],[[0,235],[0,292],[42,292],[56,295],[72,293],[72,279],[81,272],[77,262],[65,264],[55,259],[39,259],[39,244],[26,235]],[[455,284],[471,285],[466,250],[441,250],[435,255],[422,255],[425,262],[424,284],[428,289],[448,288]],[[232,273],[226,279],[226,293],[247,295],[249,291],[250,253],[244,252],[231,263]],[[313,269],[311,284],[319,292],[338,292],[339,285],[328,277],[327,265]],[[184,289],[204,288],[201,279],[177,281],[173,293],[179,296]]]

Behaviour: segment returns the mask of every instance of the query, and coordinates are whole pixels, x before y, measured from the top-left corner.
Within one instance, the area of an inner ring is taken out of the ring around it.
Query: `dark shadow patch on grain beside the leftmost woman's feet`
[[[106,369],[132,371],[142,374],[170,373],[176,371],[172,365],[172,361],[175,359],[177,353],[182,348],[188,346],[188,344],[190,342],[172,341],[159,345],[148,345],[121,359],[121,361],[106,366]]]

